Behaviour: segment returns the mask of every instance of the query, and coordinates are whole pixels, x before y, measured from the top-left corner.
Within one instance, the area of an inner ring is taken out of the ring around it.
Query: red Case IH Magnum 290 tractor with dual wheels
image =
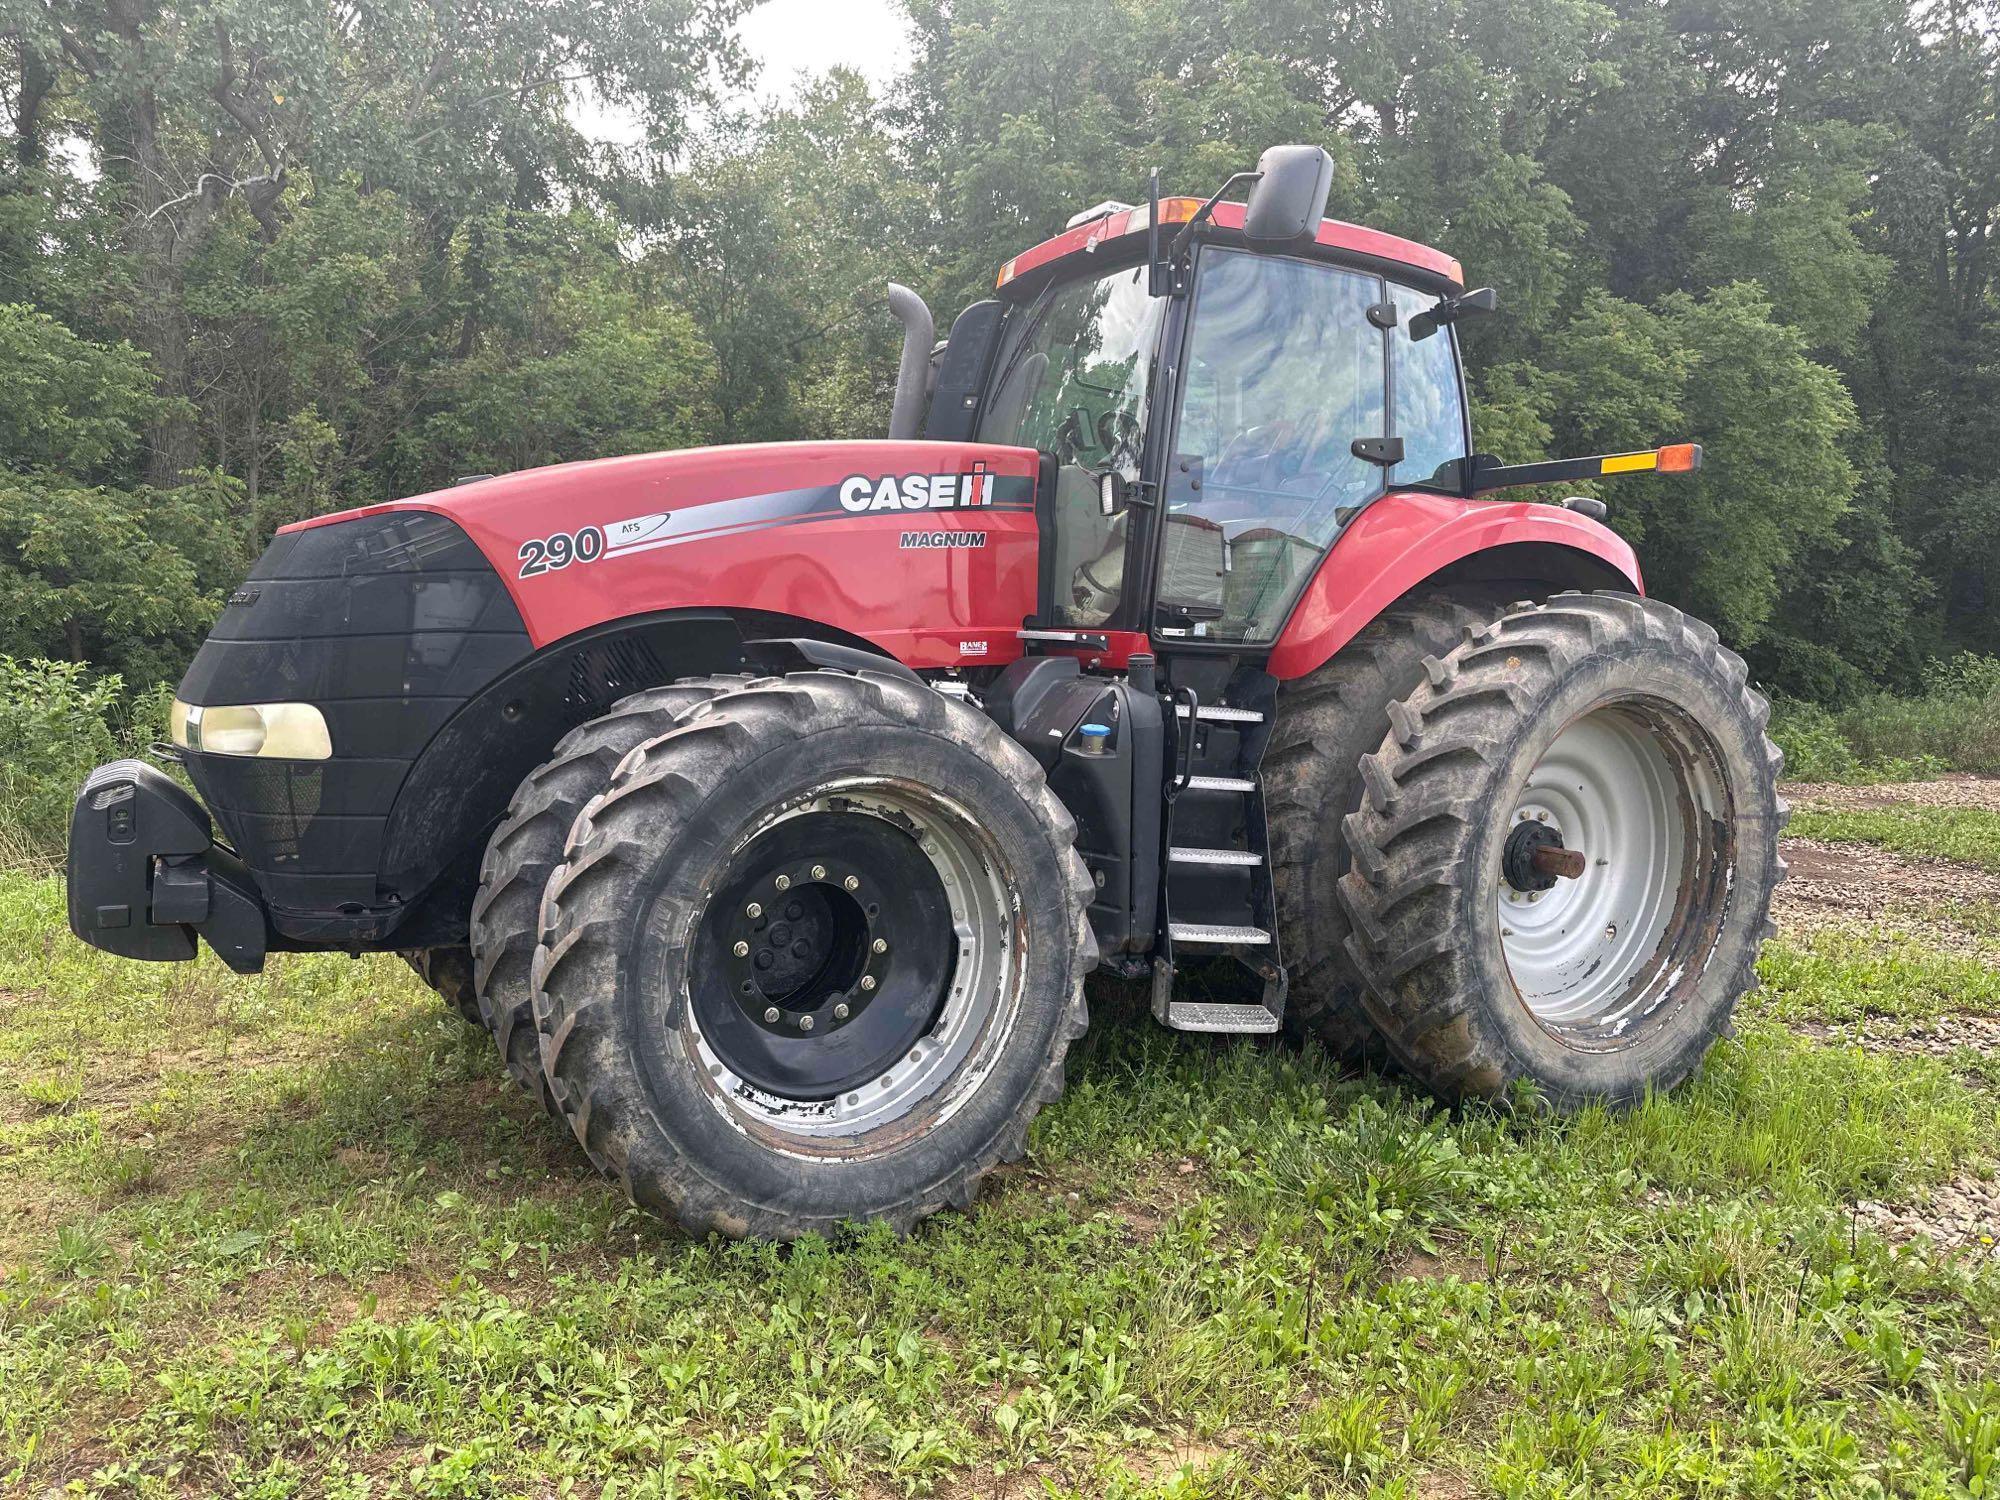
[[[404,952],[698,1232],[968,1204],[1092,968],[1452,1100],[1678,1082],[1768,934],[1766,706],[1598,502],[1488,496],[1700,450],[1474,456],[1492,294],[1330,174],[1080,214],[938,352],[894,288],[886,442],[284,528],[180,684],[200,802],[98,768],[70,924]]]

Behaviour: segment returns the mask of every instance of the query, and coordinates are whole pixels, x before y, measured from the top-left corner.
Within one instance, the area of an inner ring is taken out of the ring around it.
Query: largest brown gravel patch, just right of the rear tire
[[[1978,932],[1952,920],[1952,908],[2000,906],[2000,874],[1870,844],[1786,838],[1780,848],[1792,872],[1772,896],[1770,914],[1786,936],[1914,922],[1948,952],[1988,946]]]

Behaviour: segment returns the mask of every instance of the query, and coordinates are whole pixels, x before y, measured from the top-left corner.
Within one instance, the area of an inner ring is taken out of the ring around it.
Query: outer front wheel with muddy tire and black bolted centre
[[[764,678],[664,728],[542,904],[576,1138],[696,1234],[970,1204],[1086,1024],[1068,810],[988,718],[888,674]]]

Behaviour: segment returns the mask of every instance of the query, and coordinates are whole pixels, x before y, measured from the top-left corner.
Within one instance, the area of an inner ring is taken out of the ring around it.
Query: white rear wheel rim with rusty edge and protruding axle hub
[[[1670,1006],[1718,920],[1726,826],[1728,788],[1684,710],[1634,698],[1564,726],[1512,798],[1494,892],[1508,976],[1544,1030],[1616,1050]],[[1580,876],[1524,878],[1522,850],[1550,840],[1582,852]]]

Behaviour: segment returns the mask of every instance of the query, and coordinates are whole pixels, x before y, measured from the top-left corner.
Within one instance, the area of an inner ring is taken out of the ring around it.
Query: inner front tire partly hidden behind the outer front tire
[[[472,898],[468,992],[474,1018],[492,1032],[508,1074],[550,1114],[556,1102],[542,1076],[542,1046],[534,1032],[534,946],[540,942],[542,888],[562,862],[562,846],[584,804],[610,782],[612,768],[634,746],[662,734],[674,718],[750,678],[684,678],[620,698],[602,716],[578,724],[556,754],[522,780],[506,818],[486,840],[480,888]]]

